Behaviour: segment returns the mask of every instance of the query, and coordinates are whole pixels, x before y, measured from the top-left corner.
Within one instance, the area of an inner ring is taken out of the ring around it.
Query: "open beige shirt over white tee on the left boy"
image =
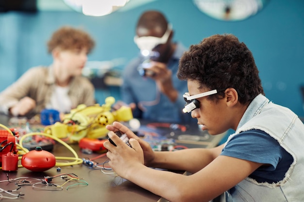
[[[30,113],[40,113],[50,101],[54,90],[55,78],[52,67],[33,67],[25,72],[15,83],[0,93],[0,112],[8,114],[8,109],[16,105],[25,97],[36,101],[36,108]],[[72,102],[72,109],[79,104],[86,106],[95,104],[94,87],[84,77],[75,77],[69,84],[68,96]]]

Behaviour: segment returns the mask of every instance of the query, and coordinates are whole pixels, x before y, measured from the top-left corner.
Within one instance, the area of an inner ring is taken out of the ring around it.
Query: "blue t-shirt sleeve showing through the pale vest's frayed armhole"
[[[283,180],[293,162],[293,157],[279,142],[262,130],[248,130],[235,135],[220,155],[269,164],[261,166],[249,175],[259,183],[276,183]]]

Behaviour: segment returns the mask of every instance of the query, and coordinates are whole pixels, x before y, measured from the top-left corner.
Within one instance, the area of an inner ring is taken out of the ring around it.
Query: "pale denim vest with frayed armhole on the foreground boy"
[[[276,139],[292,155],[293,163],[277,183],[258,183],[247,177],[225,192],[226,202],[304,202],[304,124],[290,109],[275,105],[260,94],[227,142],[250,129],[265,131]]]

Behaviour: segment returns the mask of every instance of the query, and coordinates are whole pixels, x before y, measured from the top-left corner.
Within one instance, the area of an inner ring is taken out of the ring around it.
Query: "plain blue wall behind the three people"
[[[97,42],[89,60],[108,61],[137,54],[133,43],[135,23],[147,9],[158,9],[173,25],[175,39],[186,47],[216,33],[233,33],[252,50],[266,95],[274,103],[304,116],[299,87],[304,83],[304,0],[270,0],[257,15],[243,21],[219,21],[200,12],[191,0],[156,0],[108,16],[76,12],[17,12],[0,14],[0,91],[28,68],[49,65],[46,42],[62,25],[83,27]],[[119,98],[118,89],[98,90]]]

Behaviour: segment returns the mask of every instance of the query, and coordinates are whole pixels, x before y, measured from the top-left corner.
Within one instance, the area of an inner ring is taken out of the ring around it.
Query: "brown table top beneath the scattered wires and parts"
[[[0,123],[6,124],[7,120],[4,120],[0,116]],[[7,126],[7,125],[6,125]],[[147,129],[146,125],[143,129]],[[150,128],[151,129],[151,128]],[[154,128],[155,129],[155,128]],[[153,130],[153,128],[151,129]],[[151,131],[150,131],[151,132]],[[155,129],[156,133],[161,133],[161,136],[174,139],[178,145],[183,145],[188,148],[201,147],[201,148],[211,148],[217,146],[222,137],[225,134],[220,134],[217,136],[210,136],[208,133],[198,129],[198,126],[188,127],[186,131],[181,131],[180,129],[172,128],[161,128]],[[191,136],[189,135],[193,135]],[[182,137],[182,138],[180,138]],[[84,154],[81,152],[78,144],[70,145],[80,158],[94,158],[101,155],[100,153]],[[55,156],[73,156],[73,154],[63,145],[56,143],[52,150]],[[103,163],[106,161],[107,157],[103,156],[96,159],[98,163]],[[19,160],[20,164],[20,160]],[[50,191],[41,190],[33,188],[31,185],[21,186],[18,189],[19,192],[24,194],[24,196],[17,199],[21,202],[54,202],[54,201],[75,201],[75,202],[88,202],[88,201],[102,201],[102,202],[160,202],[164,201],[160,196],[145,190],[134,183],[122,179],[115,174],[105,174],[101,172],[101,169],[91,170],[88,166],[84,164],[65,166],[60,168],[61,171],[57,171],[56,167],[44,172],[34,172],[29,171],[26,168],[18,168],[17,171],[0,171],[0,188],[5,190],[14,190],[17,188],[14,182],[8,182],[9,179],[15,179],[19,177],[26,177],[29,181],[31,178],[44,179],[45,176],[55,176],[64,173],[74,173],[79,178],[82,178],[88,183],[88,186],[79,185],[71,186],[68,185],[75,184],[75,182],[68,182],[63,186],[60,191]],[[183,172],[180,171],[182,174]],[[4,182],[3,182],[4,181]],[[12,180],[10,180],[12,181]],[[57,177],[52,180],[53,183],[62,185],[65,180]],[[7,194],[5,194],[7,196]],[[5,199],[7,202],[13,202],[16,200]]]

